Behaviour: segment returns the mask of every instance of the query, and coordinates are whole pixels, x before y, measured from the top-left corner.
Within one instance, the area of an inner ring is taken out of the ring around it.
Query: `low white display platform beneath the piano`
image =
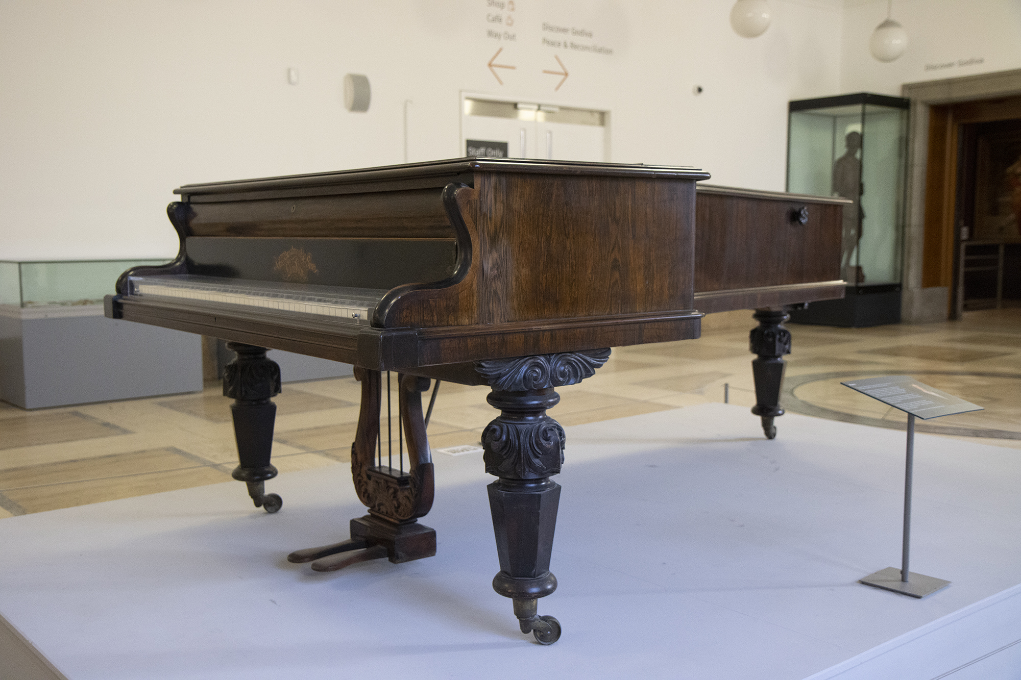
[[[70,680],[1018,677],[1018,452],[918,435],[912,570],[953,582],[919,600],[856,583],[900,561],[904,433],[777,424],[567,428],[549,647],[490,586],[476,455],[437,454],[438,553],[403,565],[286,562],[363,514],[343,465],[271,481],[277,515],[228,483],[2,520],[0,614]]]

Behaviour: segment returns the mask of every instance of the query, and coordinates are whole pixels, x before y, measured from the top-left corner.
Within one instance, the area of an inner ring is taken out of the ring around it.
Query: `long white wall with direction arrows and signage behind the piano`
[[[772,0],[747,40],[731,4],[517,0],[506,43],[487,0],[0,0],[0,258],[172,255],[173,188],[401,162],[405,100],[409,159],[460,155],[463,90],[607,108],[613,160],[782,189],[787,101],[840,92],[841,10]],[[613,54],[543,47],[543,21]],[[346,72],[367,113],[343,108]]]

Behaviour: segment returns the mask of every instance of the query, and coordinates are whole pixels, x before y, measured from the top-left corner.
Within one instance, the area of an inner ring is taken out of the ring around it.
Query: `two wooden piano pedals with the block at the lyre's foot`
[[[345,552],[356,551],[345,555]],[[350,565],[387,557],[398,564],[436,554],[436,531],[416,521],[395,524],[372,515],[351,520],[346,541],[302,548],[287,555],[295,564],[312,563],[312,571],[335,572]]]

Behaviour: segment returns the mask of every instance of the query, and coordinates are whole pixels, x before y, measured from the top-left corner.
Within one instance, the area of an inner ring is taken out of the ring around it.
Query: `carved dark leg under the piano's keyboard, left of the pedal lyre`
[[[227,347],[237,352],[224,368],[224,396],[234,399],[231,411],[240,464],[231,477],[248,485],[255,507],[276,513],[284,501],[276,493],[265,493],[265,480],[277,476],[270,465],[277,404],[270,399],[280,394],[280,367],[266,358],[265,347],[240,342],[229,342]]]

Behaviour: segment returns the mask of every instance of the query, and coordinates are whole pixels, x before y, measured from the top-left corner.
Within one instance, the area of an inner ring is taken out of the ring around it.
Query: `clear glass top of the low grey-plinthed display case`
[[[163,264],[166,259],[75,261],[0,260],[0,304],[18,307],[81,306],[103,303],[125,270]]]

